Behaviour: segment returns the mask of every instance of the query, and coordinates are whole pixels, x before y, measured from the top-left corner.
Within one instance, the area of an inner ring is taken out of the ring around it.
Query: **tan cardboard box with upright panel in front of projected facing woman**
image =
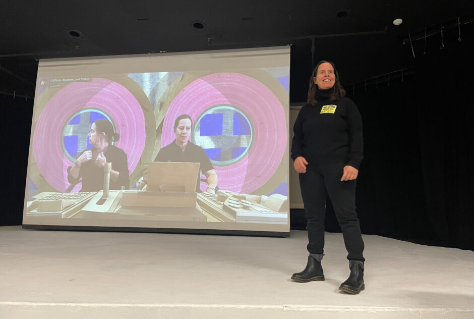
[[[152,162],[147,190],[124,191],[122,206],[195,207],[199,168],[199,163]]]

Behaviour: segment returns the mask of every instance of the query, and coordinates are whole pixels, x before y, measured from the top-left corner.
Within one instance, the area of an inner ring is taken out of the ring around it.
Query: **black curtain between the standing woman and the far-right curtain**
[[[404,76],[390,84],[371,84],[367,90],[348,89],[364,123],[364,161],[356,198],[363,233],[431,242],[415,83],[413,76]]]

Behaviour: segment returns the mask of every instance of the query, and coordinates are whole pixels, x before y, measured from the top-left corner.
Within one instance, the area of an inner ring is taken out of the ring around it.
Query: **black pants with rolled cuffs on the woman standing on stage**
[[[364,241],[356,213],[356,180],[341,182],[344,163],[308,165],[300,187],[308,219],[308,251],[324,253],[324,217],[329,195],[342,230],[347,259],[364,261]]]

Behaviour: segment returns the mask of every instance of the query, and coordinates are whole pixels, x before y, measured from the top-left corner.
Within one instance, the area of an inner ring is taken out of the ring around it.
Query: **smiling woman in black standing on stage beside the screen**
[[[291,158],[300,173],[300,187],[308,219],[308,264],[291,277],[297,282],[324,280],[324,217],[329,195],[348,252],[350,275],[339,289],[364,290],[364,242],[356,213],[356,178],[363,158],[362,119],[332,62],[313,70],[308,103],[294,124]]]

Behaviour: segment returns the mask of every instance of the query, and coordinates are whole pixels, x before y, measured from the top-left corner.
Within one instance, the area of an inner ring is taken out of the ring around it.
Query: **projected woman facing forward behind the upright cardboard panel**
[[[215,193],[217,187],[217,174],[211,164],[209,157],[202,147],[189,141],[193,120],[187,114],[182,114],[174,121],[173,132],[176,139],[161,148],[156,155],[155,162],[185,162],[200,163],[202,174],[206,176],[206,192]],[[196,191],[200,192],[200,179],[196,185]]]

